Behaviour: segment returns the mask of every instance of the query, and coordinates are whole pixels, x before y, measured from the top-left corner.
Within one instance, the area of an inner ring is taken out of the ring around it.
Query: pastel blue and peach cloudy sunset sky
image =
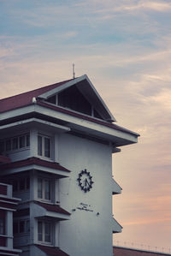
[[[68,80],[73,63],[140,134],[113,156],[115,245],[169,253],[171,1],[0,0],[0,98]]]

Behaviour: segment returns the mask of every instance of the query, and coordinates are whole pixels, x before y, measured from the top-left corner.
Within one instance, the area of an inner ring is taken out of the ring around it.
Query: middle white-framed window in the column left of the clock
[[[51,181],[48,179],[38,178],[38,198],[51,199]]]

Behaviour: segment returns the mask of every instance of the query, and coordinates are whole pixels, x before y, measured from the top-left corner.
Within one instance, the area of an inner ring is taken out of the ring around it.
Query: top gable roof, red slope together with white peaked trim
[[[103,116],[105,116],[106,121],[115,121],[115,117],[110,113],[107,105],[103,102],[103,99],[100,97],[86,74],[75,79],[64,80],[62,82],[50,86],[44,86],[30,92],[24,92],[9,98],[0,99],[0,113],[33,104],[32,98],[38,98],[38,101],[45,100],[71,86],[77,86],[90,104],[93,105],[100,113],[102,113]]]

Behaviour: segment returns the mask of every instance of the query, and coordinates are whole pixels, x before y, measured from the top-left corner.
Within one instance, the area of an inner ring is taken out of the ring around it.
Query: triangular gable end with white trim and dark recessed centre
[[[58,95],[57,103],[56,95]],[[74,98],[72,98],[73,95]],[[68,96],[72,98],[71,103],[68,101]],[[44,99],[51,104],[58,104],[70,110],[76,110],[85,115],[94,116],[108,122],[116,121],[86,74],[74,80],[69,80],[62,84],[62,86],[58,86],[49,92],[39,95],[38,98]]]

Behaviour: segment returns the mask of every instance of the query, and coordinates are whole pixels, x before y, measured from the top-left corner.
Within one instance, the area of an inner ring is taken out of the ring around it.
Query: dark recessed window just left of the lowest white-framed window
[[[28,233],[30,231],[30,221],[28,219],[15,220],[13,222],[14,234]]]

